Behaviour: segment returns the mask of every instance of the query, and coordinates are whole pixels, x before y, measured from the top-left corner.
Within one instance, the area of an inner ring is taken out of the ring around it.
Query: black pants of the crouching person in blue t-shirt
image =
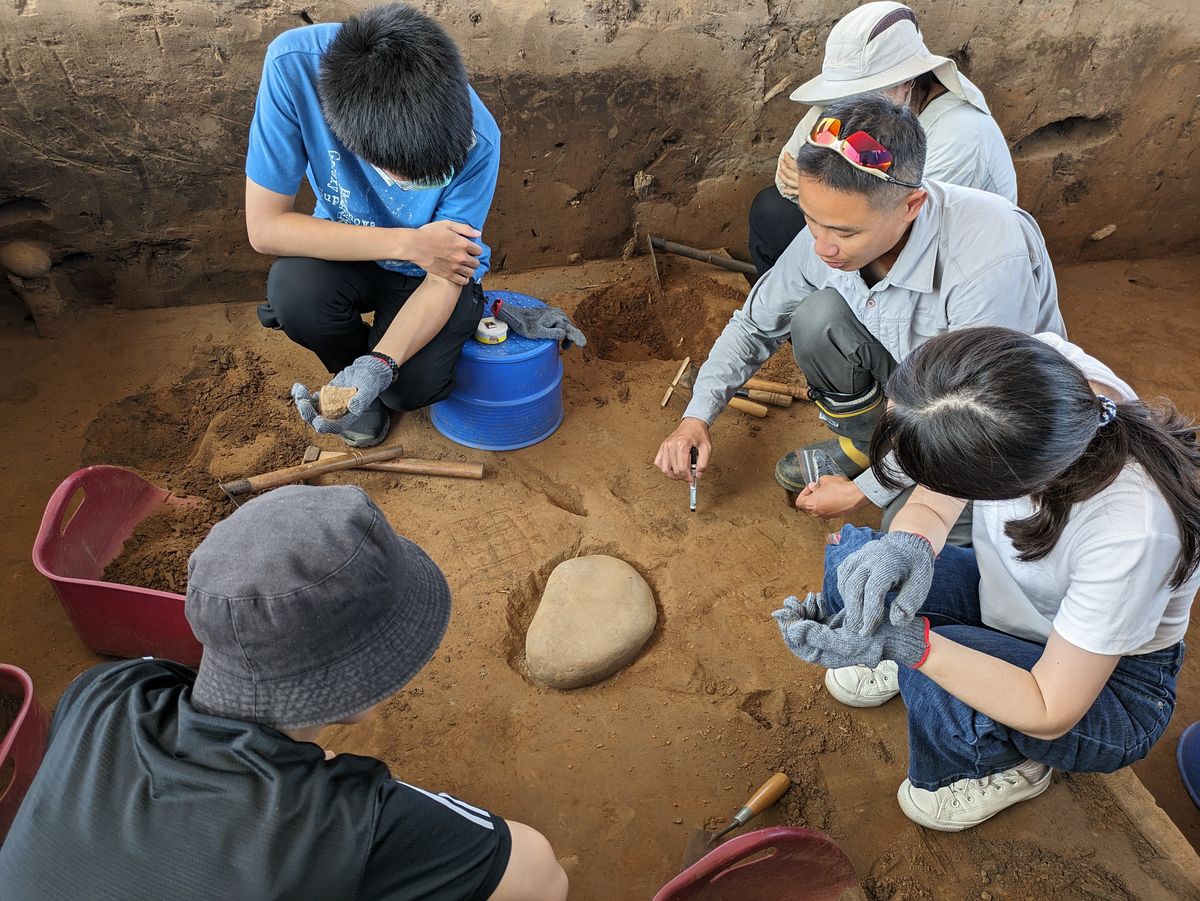
[[[266,277],[258,319],[312,350],[330,372],[340,372],[378,343],[424,281],[372,262],[281,257]],[[370,312],[373,325],[362,320]],[[404,361],[383,402],[394,410],[415,410],[449,396],[458,354],[482,316],[484,289],[468,282],[442,331]]]

